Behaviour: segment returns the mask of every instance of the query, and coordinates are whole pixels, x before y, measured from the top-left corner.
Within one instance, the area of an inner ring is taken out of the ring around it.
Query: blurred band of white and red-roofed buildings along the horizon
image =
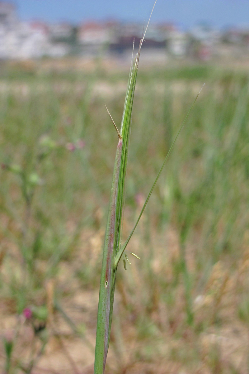
[[[43,21],[21,22],[16,6],[0,0],[0,59],[29,59],[78,56],[122,56],[137,49],[144,24],[135,22],[87,21],[48,24]],[[217,30],[206,23],[188,32],[170,22],[150,24],[143,45],[149,59],[248,58],[249,28]]]

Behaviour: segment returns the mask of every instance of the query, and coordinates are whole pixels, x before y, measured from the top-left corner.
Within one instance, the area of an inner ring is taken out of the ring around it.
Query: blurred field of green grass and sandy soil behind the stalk
[[[6,373],[93,373],[117,144],[104,104],[120,123],[128,69],[100,59],[75,60],[73,68],[55,61],[0,69]],[[127,271],[120,265],[107,374],[249,371],[245,66],[177,61],[138,70],[123,237],[203,83],[130,241],[141,259]]]

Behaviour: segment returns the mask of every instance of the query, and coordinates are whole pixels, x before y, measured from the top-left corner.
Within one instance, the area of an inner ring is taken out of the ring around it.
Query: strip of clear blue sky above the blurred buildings
[[[5,0],[15,3],[22,20],[70,21],[115,18],[147,21],[154,0]],[[171,21],[189,28],[207,21],[219,28],[249,25],[249,0],[158,0],[152,22]]]

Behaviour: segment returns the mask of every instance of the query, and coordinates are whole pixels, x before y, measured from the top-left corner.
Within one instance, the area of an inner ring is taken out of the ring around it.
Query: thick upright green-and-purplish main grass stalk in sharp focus
[[[142,42],[140,42],[138,53],[130,70],[124,105],[124,113],[122,116],[121,131],[116,151],[115,166],[112,178],[111,198],[109,203],[109,213],[103,250],[102,271],[100,277],[94,374],[104,373],[110,340],[116,279],[114,256],[119,252],[119,246],[121,243],[122,212],[124,205],[128,144],[131,128],[131,111],[137,79],[137,68],[141,43]]]

